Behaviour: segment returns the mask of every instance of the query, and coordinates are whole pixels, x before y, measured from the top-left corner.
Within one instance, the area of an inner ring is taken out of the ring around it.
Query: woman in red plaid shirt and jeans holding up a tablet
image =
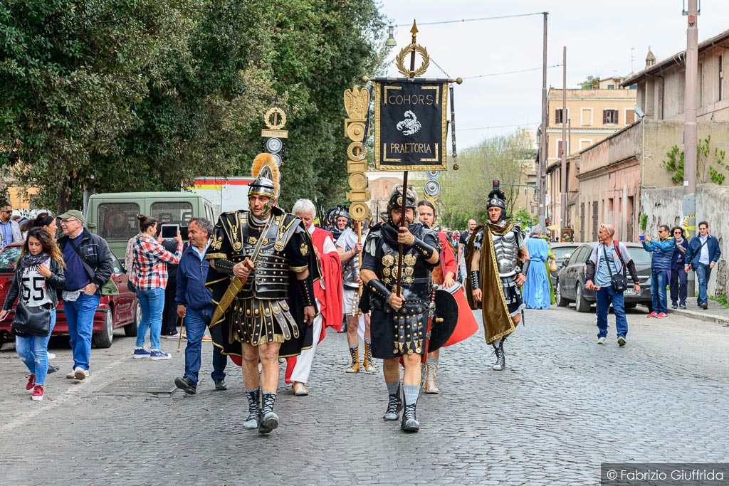
[[[177,251],[174,254],[165,250],[160,244],[162,238],[157,234],[157,220],[140,214],[139,235],[133,240],[133,261],[131,281],[136,290],[141,306],[141,321],[137,329],[137,340],[134,346],[135,358],[170,359],[170,353],[160,350],[160,333],[162,332],[162,312],[165,307],[165,286],[167,285],[167,263],[177,264],[182,256],[182,236],[175,236]],[[147,337],[152,348],[144,349],[144,338]]]

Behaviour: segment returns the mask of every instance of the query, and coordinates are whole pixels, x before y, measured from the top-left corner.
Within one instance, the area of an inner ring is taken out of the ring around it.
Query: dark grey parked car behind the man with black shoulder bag
[[[590,258],[595,243],[580,243],[569,260],[562,264],[555,284],[555,298],[559,307],[566,307],[574,302],[577,312],[588,312],[590,305],[596,302],[595,291],[585,289],[585,262]],[[640,293],[636,294],[628,274],[628,289],[625,290],[625,308],[631,309],[641,304],[652,312],[652,297],[650,294],[650,253],[643,249],[640,243],[625,243],[628,253],[636,264],[640,281]]]

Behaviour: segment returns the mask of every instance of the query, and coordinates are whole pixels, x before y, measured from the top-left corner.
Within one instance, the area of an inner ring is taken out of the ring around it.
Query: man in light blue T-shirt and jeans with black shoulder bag
[[[597,343],[605,344],[607,342],[607,311],[612,302],[617,344],[625,346],[625,336],[628,334],[625,297],[623,296],[623,291],[628,286],[625,270],[627,269],[631,274],[636,294],[640,293],[640,281],[635,262],[628,254],[628,248],[623,243],[613,240],[613,235],[615,235],[615,228],[610,224],[600,225],[597,232],[600,242],[593,248],[585,267],[585,278],[587,279],[585,289],[594,290],[597,297]]]

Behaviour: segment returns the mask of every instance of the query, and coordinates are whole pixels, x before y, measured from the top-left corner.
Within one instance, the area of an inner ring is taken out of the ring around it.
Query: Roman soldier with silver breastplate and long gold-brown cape
[[[524,308],[519,287],[529,270],[529,251],[521,227],[507,219],[500,189],[488,194],[486,208],[488,220],[474,230],[466,248],[466,292],[471,308],[481,309],[486,343],[496,354],[493,369],[502,371],[504,340],[516,329]]]

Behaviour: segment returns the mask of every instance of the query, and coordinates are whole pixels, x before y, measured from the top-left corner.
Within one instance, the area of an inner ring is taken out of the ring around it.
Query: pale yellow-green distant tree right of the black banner
[[[487,138],[459,153],[459,171],[448,171],[441,178],[440,214],[448,227],[466,227],[469,219],[486,220],[486,201],[491,181],[501,181],[508,211],[518,197],[525,163],[533,163],[534,141],[531,133],[520,130],[510,136]]]

